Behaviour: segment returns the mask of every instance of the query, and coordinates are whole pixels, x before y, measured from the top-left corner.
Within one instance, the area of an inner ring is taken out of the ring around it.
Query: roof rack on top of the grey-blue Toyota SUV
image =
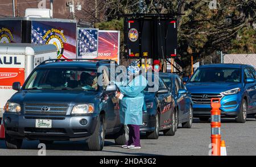
[[[41,62],[40,65],[46,64],[47,62],[59,62],[59,61],[97,61],[97,65],[100,64],[108,64],[108,63],[114,63],[117,64],[117,62],[115,60],[110,60],[110,59],[48,59],[48,60],[44,60],[43,62]]]

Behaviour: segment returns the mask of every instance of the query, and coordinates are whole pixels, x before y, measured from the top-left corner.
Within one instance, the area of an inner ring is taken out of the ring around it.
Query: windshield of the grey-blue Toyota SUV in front
[[[37,69],[24,89],[92,90],[98,89],[96,70]]]

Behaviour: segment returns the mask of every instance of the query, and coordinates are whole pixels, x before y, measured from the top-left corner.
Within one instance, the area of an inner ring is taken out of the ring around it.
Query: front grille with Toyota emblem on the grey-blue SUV
[[[48,111],[43,111],[43,107],[48,107]],[[36,104],[26,103],[25,114],[47,114],[47,115],[66,115],[68,105]]]

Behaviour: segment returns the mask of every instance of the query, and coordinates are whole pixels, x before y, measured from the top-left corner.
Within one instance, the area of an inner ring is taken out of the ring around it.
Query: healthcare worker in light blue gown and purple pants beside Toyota
[[[116,83],[119,91],[124,95],[120,101],[121,123],[129,128],[129,140],[123,148],[140,149],[139,127],[142,125],[143,110],[146,111],[144,94],[142,91],[147,86],[147,80],[140,73],[136,61],[127,68],[127,84]]]

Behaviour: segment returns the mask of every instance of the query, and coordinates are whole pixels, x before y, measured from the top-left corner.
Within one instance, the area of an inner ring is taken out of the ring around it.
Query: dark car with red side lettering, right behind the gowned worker
[[[156,83],[154,75],[151,78]],[[175,135],[174,98],[164,81],[159,77],[156,79],[159,80],[159,89],[151,91],[150,88],[154,87],[152,85],[147,86],[144,91],[147,112],[143,112],[141,131],[146,132],[148,139],[158,139],[159,131],[163,131],[166,136]]]

